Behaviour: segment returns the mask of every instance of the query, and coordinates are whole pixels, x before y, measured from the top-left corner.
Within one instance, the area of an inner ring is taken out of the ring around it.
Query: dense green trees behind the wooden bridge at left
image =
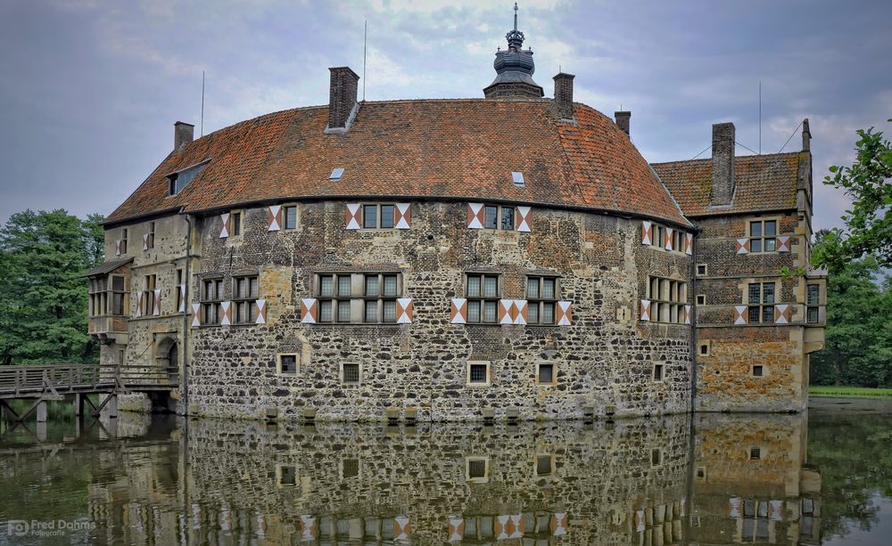
[[[26,210],[0,228],[0,364],[95,362],[81,275],[103,261],[101,222]]]

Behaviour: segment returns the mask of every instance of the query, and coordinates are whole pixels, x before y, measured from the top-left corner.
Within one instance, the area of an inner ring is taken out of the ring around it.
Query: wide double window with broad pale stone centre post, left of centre
[[[397,322],[400,277],[400,273],[319,274],[318,322]]]

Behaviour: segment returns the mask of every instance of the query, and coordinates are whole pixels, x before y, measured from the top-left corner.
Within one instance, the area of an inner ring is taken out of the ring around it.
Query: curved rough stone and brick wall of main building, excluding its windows
[[[189,411],[257,418],[275,406],[318,420],[382,420],[413,408],[420,420],[581,418],[690,410],[690,327],[641,324],[638,301],[648,274],[688,279],[690,257],[640,244],[640,222],[533,208],[532,232],[467,228],[465,203],[413,203],[409,230],[345,230],[345,204],[301,204],[294,230],[268,231],[268,209],[243,211],[241,236],[220,238],[220,216],[201,224],[200,280],[257,273],[267,323],[191,331]],[[401,325],[301,323],[320,271],[400,271],[414,321]],[[526,275],[560,277],[559,299],[573,302],[572,325],[450,323],[450,298],[464,273],[502,275],[502,295],[524,298]],[[689,289],[689,297],[690,297]],[[197,301],[197,300],[194,300]],[[277,354],[301,354],[296,377],[277,375]],[[491,385],[466,385],[467,361],[491,363]],[[653,365],[665,379],[653,379]],[[341,363],[359,363],[358,386],[343,385]],[[556,365],[557,384],[538,386],[536,363]]]

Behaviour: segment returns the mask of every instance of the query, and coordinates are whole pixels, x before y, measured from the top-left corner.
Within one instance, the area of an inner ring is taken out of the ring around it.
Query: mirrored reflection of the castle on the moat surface
[[[697,415],[692,443],[690,427],[194,420],[89,499],[100,538],[135,544],[820,543],[802,416]]]

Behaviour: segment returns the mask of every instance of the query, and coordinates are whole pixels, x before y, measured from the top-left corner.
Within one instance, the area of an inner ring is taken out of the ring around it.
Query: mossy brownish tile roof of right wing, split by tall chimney
[[[709,207],[712,159],[654,163],[653,167],[685,215],[709,216],[796,208],[800,161],[808,161],[808,152],[734,158],[734,200],[722,208]]]

